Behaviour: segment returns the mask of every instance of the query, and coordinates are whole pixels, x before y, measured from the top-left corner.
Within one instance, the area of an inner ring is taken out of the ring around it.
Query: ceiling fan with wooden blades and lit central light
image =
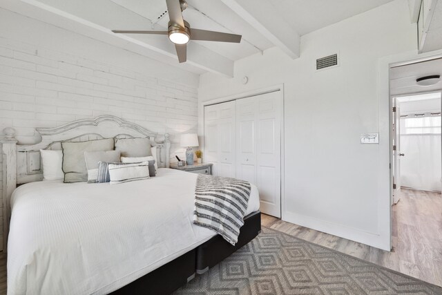
[[[182,12],[187,8],[185,0],[166,0],[167,11],[169,12],[169,28],[166,31],[155,30],[112,30],[119,34],[157,34],[168,35],[169,40],[175,44],[178,61],[186,61],[187,42],[189,40],[220,41],[240,43],[241,35],[215,32],[211,30],[200,30],[191,28],[187,21],[184,21]]]

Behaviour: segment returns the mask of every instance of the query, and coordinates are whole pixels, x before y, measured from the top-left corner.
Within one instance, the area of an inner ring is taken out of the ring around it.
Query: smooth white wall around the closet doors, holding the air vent
[[[282,218],[387,249],[390,216],[379,213],[379,203],[389,198],[378,190],[381,150],[360,144],[359,137],[379,132],[380,120],[388,122],[378,107],[378,60],[410,50],[416,50],[416,25],[410,24],[407,1],[396,0],[303,36],[299,59],[271,48],[237,61],[233,79],[201,75],[200,126],[202,102],[283,83]],[[333,53],[339,53],[340,66],[316,72],[316,59]],[[240,83],[244,75],[246,85]]]

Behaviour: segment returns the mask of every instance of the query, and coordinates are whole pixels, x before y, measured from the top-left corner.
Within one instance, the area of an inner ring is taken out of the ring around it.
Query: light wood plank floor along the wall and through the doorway
[[[402,190],[401,200],[393,206],[392,252],[293,225],[265,214],[262,214],[262,225],[442,286],[441,193]],[[6,255],[1,253],[0,294],[6,294]]]

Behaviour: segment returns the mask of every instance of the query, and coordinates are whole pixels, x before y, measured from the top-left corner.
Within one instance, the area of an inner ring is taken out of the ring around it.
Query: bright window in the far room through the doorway
[[[439,134],[441,116],[410,117],[401,119],[401,134]]]

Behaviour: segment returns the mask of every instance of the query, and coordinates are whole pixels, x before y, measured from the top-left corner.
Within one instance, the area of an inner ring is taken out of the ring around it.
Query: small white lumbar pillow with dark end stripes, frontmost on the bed
[[[127,164],[110,163],[108,167],[111,184],[119,184],[150,178],[148,162]]]

